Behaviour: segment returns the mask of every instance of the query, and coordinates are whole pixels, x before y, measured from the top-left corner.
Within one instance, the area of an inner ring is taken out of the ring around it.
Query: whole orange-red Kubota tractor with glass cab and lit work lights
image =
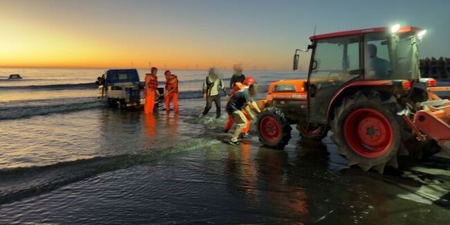
[[[450,101],[434,93],[450,87],[420,78],[424,33],[397,25],[310,37],[307,50],[294,55],[296,70],[298,51],[312,50],[307,80],[275,82],[259,102],[266,107],[257,121],[260,141],[284,147],[291,123],[307,137],[331,130],[349,165],[378,172],[397,168],[399,155],[450,152]]]

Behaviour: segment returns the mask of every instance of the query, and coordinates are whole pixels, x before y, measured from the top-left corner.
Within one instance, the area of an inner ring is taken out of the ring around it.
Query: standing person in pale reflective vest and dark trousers
[[[206,99],[206,107],[201,116],[206,116],[208,111],[213,106],[213,102],[216,107],[216,118],[220,117],[220,90],[225,92],[224,81],[222,80],[222,74],[218,73],[214,67],[208,71],[205,82],[203,83],[203,98]]]

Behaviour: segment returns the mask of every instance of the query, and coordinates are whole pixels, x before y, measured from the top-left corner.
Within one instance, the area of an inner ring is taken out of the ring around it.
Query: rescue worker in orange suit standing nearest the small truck
[[[145,73],[144,114],[152,114],[153,113],[155,97],[159,98],[158,77],[156,76],[156,73],[158,73],[158,69],[156,67],[152,67],[152,69],[150,71],[152,73]]]

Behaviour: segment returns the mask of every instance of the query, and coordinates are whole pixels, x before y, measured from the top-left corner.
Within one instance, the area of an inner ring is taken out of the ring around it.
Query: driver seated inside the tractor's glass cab
[[[367,45],[368,53],[368,71],[371,79],[386,79],[389,75],[390,64],[388,60],[377,57],[377,46],[375,44]],[[375,73],[375,74],[374,74]]]

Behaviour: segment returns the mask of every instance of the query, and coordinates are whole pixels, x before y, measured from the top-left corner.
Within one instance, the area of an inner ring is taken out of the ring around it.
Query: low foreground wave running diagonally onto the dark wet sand
[[[217,143],[219,143],[217,140],[197,138],[192,141],[186,141],[182,146],[154,149],[143,154],[98,156],[91,159],[78,159],[53,165],[3,169],[0,170],[0,181],[2,183],[0,187],[0,205],[49,192],[103,172],[152,163],[165,156],[197,150]]]

